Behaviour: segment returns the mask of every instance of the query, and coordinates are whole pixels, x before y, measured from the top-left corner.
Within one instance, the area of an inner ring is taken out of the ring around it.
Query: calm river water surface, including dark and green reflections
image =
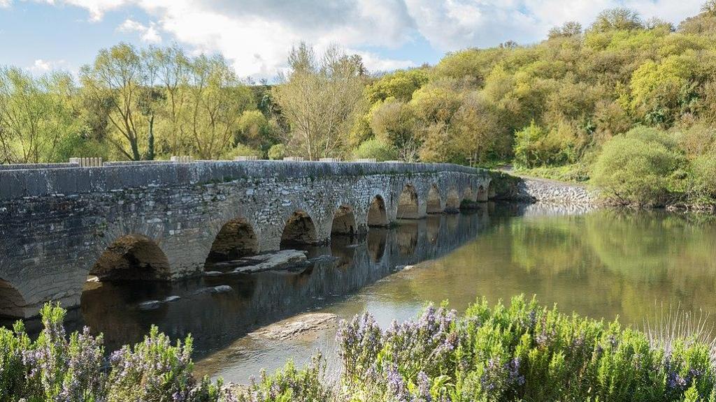
[[[716,222],[707,215],[485,205],[460,215],[371,230],[311,250],[314,265],[292,272],[203,278],[175,285],[101,284],[87,289],[72,325],[105,333],[111,348],[155,323],[173,337],[192,333],[200,373],[246,383],[316,349],[335,364],[335,328],[294,340],[245,336],[306,311],[351,318],[364,310],[387,326],[413,318],[426,301],[464,310],[524,293],[563,311],[643,325],[662,306],[716,311]],[[329,257],[332,256],[332,257]],[[417,264],[401,270],[403,265]],[[227,293],[203,291],[230,285]],[[138,303],[180,295],[155,310]]]

